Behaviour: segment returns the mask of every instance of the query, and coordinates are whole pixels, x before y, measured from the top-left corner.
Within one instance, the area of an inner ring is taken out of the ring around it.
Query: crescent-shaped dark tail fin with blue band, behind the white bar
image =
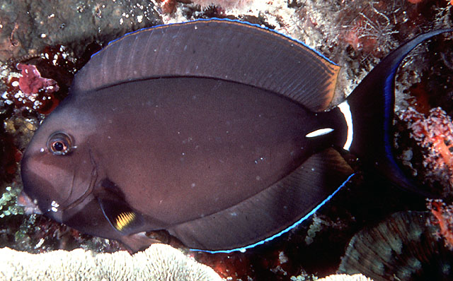
[[[346,100],[350,105],[354,136],[350,151],[374,165],[392,184],[424,196],[394,160],[392,122],[395,103],[395,74],[399,64],[413,48],[429,38],[453,30],[435,30],[418,35],[390,52],[357,85]]]

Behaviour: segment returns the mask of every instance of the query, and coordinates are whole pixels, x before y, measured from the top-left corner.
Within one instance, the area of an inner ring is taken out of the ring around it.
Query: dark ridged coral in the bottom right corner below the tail
[[[429,212],[394,213],[352,237],[339,273],[374,281],[452,280],[453,252],[438,240]]]

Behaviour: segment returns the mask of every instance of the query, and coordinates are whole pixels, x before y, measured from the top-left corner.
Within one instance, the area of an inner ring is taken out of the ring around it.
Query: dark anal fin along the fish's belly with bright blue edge
[[[352,169],[328,148],[230,208],[168,228],[191,249],[237,251],[273,239],[304,221],[344,185]]]

